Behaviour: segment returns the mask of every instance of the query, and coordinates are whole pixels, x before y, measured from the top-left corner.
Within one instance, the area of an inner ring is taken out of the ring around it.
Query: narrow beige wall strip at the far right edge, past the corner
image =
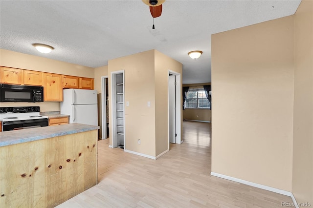
[[[294,15],[294,108],[292,193],[313,204],[313,1]]]

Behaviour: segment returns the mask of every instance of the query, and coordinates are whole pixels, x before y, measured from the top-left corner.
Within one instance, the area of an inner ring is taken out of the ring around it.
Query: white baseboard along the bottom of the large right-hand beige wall
[[[227,180],[230,180],[230,181],[235,181],[235,182],[238,182],[238,183],[241,183],[241,184],[246,184],[246,185],[251,186],[251,187],[262,188],[262,189],[269,190],[269,191],[272,191],[272,192],[275,192],[275,193],[280,193],[280,194],[283,194],[285,196],[290,196],[290,197],[293,196],[293,194],[290,191],[285,191],[285,190],[278,189],[278,188],[268,187],[268,186],[265,186],[265,185],[262,185],[262,184],[257,184],[257,183],[253,183],[253,182],[250,182],[250,181],[245,181],[245,180],[242,180],[242,179],[239,179],[239,178],[234,178],[234,177],[223,175],[223,174],[220,174],[220,173],[211,172],[211,175],[219,177],[219,178],[224,178],[224,179],[227,179]],[[295,201],[295,199],[294,200],[292,199],[292,201]]]

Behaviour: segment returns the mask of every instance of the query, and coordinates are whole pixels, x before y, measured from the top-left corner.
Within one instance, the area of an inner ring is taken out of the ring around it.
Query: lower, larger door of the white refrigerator
[[[98,125],[98,105],[72,105],[71,123]]]

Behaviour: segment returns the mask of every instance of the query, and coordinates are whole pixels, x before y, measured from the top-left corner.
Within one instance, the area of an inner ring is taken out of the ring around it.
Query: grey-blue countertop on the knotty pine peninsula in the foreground
[[[79,132],[99,129],[100,126],[85,124],[66,124],[45,126],[39,128],[28,128],[13,131],[0,132],[0,146],[14,145],[41,139],[75,134]]]

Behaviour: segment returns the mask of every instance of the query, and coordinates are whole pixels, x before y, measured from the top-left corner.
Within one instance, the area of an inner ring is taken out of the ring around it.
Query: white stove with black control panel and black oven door
[[[39,106],[0,107],[2,130],[18,130],[48,125],[48,117],[40,115]]]

